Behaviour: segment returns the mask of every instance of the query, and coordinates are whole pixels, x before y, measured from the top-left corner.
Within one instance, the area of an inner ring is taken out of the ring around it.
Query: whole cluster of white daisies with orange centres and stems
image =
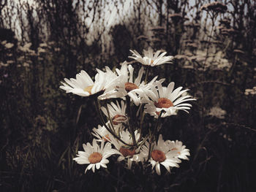
[[[174,88],[174,82],[167,87],[162,85],[165,80],[158,77],[147,82],[149,66],[170,64],[173,57],[165,56],[161,50],[154,53],[151,48],[144,50],[143,56],[136,50],[131,52],[129,58],[143,65],[138,73],[124,61],[115,72],[106,66],[103,71],[96,69],[95,77],[81,71],[75,79],[65,78],[61,82],[60,88],[67,93],[94,99],[102,123],[92,129],[92,145],[84,144],[84,151],[78,151],[74,158],[78,164],[89,164],[86,172],[95,172],[95,167],[106,168],[110,155],[118,155],[117,161],[126,161],[129,169],[133,162],[151,164],[157,174],[161,173],[160,164],[170,172],[181,159],[188,160],[189,150],[182,142],[162,139],[159,121],[177,115],[178,110],[188,112],[192,105],[187,101],[195,99],[187,94],[187,89]],[[153,116],[155,126],[143,130],[146,115]]]

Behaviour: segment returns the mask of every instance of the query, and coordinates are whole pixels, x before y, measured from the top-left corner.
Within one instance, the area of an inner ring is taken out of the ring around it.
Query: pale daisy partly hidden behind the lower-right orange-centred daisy
[[[176,140],[176,141],[165,141],[166,145],[172,150],[174,153],[176,153],[176,157],[189,160],[187,156],[190,155],[189,149],[186,149],[185,145],[182,145],[182,142]]]

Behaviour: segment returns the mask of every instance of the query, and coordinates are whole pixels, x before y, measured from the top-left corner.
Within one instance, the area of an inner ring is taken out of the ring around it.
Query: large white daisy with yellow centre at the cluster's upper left
[[[97,72],[95,81],[93,81],[89,74],[82,70],[76,75],[76,79],[65,78],[65,82],[61,82],[60,88],[66,93],[74,93],[78,96],[91,96],[96,93],[99,94],[99,99],[113,96],[113,85],[116,80],[118,81],[117,77],[113,79],[108,72],[102,72],[99,69]]]

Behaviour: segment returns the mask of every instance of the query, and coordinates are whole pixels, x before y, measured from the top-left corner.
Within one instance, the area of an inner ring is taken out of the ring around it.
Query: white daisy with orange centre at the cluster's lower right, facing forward
[[[149,143],[146,142],[141,149],[140,158],[148,158],[148,150],[151,150],[149,162],[152,165],[152,169],[155,167],[158,175],[161,174],[160,164],[165,166],[169,173],[171,167],[179,167],[178,163],[181,163],[181,160],[176,158],[176,153],[166,145],[161,134],[159,135],[158,142],[154,142],[152,146],[152,150],[149,149]]]

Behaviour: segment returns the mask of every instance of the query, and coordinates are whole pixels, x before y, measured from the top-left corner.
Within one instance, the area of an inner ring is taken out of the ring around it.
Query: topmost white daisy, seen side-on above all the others
[[[146,66],[157,66],[162,64],[171,64],[173,60],[173,56],[165,56],[166,52],[162,52],[162,50],[157,50],[156,53],[153,53],[151,47],[148,50],[143,50],[144,56],[142,57],[140,53],[136,50],[130,50],[132,52],[132,56],[129,58],[133,58],[138,61],[140,64]],[[161,55],[159,55],[161,53]]]

